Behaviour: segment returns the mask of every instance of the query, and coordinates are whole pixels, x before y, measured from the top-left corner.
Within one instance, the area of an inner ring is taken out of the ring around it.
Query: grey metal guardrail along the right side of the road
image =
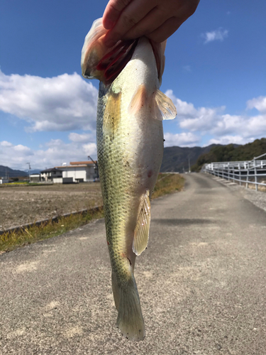
[[[266,153],[253,160],[209,163],[204,165],[202,171],[219,178],[239,182],[240,185],[244,183],[246,188],[248,184],[253,184],[257,191],[258,186],[266,187],[266,178],[265,181],[263,180],[263,177],[266,177],[266,160],[260,159],[265,156]]]

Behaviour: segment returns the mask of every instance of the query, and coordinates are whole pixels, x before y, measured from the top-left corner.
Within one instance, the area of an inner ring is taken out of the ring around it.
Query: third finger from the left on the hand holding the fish
[[[135,26],[133,26],[126,35],[123,36],[124,40],[139,38],[142,35],[152,33],[160,27],[169,16],[167,13],[160,11],[160,9],[152,9],[144,18],[142,18]]]

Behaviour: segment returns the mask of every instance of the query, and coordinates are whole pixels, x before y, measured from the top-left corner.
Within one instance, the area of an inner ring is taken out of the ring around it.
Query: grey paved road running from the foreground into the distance
[[[0,354],[266,355],[266,213],[207,175],[152,204],[143,342],[116,329],[101,219],[0,256]]]

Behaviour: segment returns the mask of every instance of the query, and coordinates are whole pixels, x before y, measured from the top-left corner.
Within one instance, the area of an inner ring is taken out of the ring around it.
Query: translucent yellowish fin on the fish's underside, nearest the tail
[[[143,195],[138,214],[138,222],[135,226],[132,249],[136,255],[140,255],[148,245],[150,231],[150,198],[149,191]]]

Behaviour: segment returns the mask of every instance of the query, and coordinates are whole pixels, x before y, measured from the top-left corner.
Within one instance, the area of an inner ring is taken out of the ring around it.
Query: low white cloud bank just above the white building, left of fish
[[[96,143],[64,143],[60,139],[52,139],[45,148],[34,151],[26,146],[0,142],[1,165],[13,169],[26,170],[28,162],[32,169],[52,168],[64,162],[87,160],[88,155],[96,158]]]

